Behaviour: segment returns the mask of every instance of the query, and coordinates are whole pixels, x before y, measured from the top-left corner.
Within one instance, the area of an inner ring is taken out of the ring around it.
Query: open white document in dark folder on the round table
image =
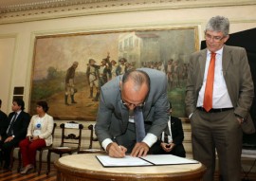
[[[108,155],[96,155],[96,157],[103,167],[137,167],[198,163],[198,161],[178,157],[172,154],[149,154],[143,157],[126,155],[123,158],[113,158]]]

